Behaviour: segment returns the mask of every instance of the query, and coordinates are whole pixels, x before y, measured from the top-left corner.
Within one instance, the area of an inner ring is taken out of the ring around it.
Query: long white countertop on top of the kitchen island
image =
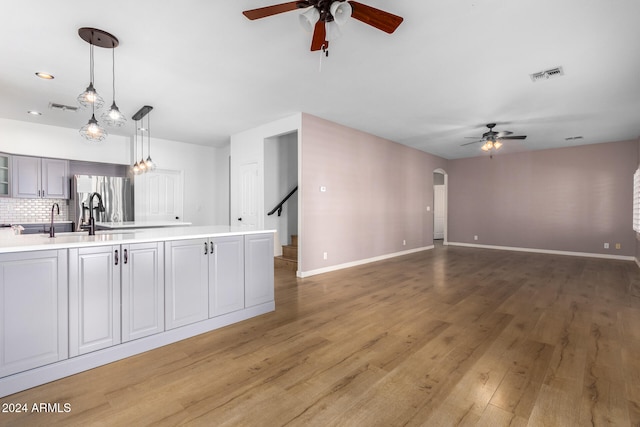
[[[67,249],[85,246],[104,246],[111,244],[145,243],[169,240],[200,239],[221,236],[239,236],[245,234],[275,233],[275,230],[259,230],[249,227],[210,225],[187,227],[164,227],[131,230],[96,231],[89,236],[86,231],[48,234],[21,234],[0,238],[0,253]]]

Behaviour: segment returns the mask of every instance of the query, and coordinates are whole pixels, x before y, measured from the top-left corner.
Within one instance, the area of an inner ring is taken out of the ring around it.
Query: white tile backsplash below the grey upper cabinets
[[[49,222],[51,207],[60,206],[60,215],[54,212],[54,221],[69,220],[69,200],[66,199],[14,199],[0,197],[0,224]]]

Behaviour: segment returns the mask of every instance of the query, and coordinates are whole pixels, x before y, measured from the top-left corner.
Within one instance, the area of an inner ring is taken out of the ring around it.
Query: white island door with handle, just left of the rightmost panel
[[[244,308],[244,239],[217,237],[210,244],[209,317]]]

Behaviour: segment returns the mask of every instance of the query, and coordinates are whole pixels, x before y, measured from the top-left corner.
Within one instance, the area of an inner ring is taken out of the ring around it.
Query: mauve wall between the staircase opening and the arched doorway
[[[301,129],[299,271],[433,244],[427,206],[447,160],[308,114]]]

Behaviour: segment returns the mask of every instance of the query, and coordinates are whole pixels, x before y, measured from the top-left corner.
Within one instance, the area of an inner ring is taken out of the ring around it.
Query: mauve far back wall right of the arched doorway
[[[634,256],[637,164],[638,141],[451,160],[449,241]]]

